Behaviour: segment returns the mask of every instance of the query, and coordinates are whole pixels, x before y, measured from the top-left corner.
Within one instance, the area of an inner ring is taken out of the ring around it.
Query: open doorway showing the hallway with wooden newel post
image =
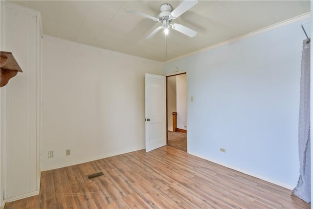
[[[187,74],[166,77],[167,145],[187,152]]]

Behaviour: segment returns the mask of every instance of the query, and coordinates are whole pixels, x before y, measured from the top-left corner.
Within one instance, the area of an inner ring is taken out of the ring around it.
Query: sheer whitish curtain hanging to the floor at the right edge
[[[291,193],[305,202],[311,202],[311,149],[310,149],[310,42],[303,41],[300,110],[299,110],[299,160],[300,176]]]

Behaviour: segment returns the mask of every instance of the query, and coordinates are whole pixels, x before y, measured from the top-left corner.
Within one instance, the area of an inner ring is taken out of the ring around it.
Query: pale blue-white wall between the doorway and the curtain
[[[175,67],[188,70],[189,153],[285,187],[296,185],[306,21],[166,64],[165,74]]]

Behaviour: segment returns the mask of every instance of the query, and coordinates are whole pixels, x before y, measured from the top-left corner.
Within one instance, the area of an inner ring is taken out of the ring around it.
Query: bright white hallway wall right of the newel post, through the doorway
[[[187,130],[187,77],[176,75],[177,128]]]

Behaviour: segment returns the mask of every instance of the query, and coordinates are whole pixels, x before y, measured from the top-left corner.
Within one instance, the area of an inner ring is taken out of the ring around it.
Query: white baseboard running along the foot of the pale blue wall
[[[203,157],[203,156],[201,156],[201,155],[198,155],[198,154],[195,154],[195,153],[192,153],[192,152],[188,152],[188,153],[189,153],[190,155],[193,155],[193,156],[202,158],[202,159],[207,160],[207,161],[210,161],[210,162],[212,162],[212,163],[217,163],[217,164],[219,164],[219,165],[223,165],[223,166],[228,167],[228,168],[230,168],[230,169],[239,171],[239,172],[244,173],[244,174],[249,175],[249,176],[253,176],[253,177],[255,177],[255,178],[261,179],[261,180],[263,180],[263,181],[272,183],[272,184],[277,185],[277,186],[282,186],[282,187],[288,188],[288,189],[290,189],[290,190],[292,190],[292,189],[294,188],[294,186],[287,185],[287,184],[282,183],[282,182],[278,182],[278,181],[273,180],[273,179],[270,179],[270,178],[268,178],[268,177],[261,176],[261,175],[256,174],[256,173],[252,173],[252,172],[243,170],[243,169],[241,169],[241,168],[238,168],[238,167],[235,167],[235,166],[232,166],[232,165],[228,165],[228,164],[225,164],[225,163],[221,163],[221,162],[215,161],[215,160],[210,159],[210,158]]]

